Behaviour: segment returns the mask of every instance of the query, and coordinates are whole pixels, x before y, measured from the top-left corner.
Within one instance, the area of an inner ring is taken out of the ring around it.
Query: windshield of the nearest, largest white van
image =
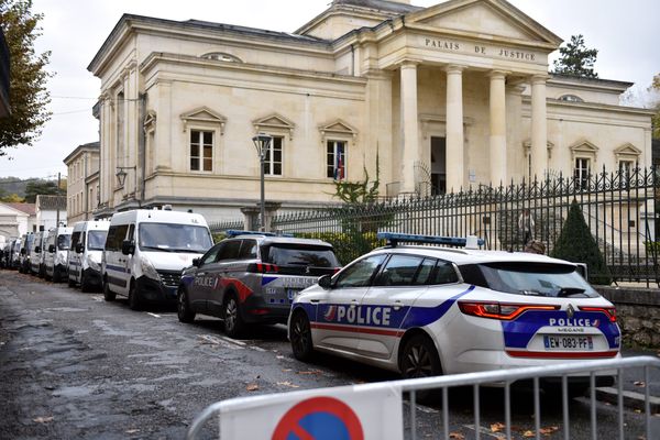
[[[204,253],[213,245],[205,227],[177,223],[140,223],[139,245],[143,251]]]

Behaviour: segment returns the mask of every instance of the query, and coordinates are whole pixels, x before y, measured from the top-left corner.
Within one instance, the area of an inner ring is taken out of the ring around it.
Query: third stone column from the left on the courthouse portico
[[[491,183],[506,184],[506,88],[505,73],[493,70],[491,77]]]

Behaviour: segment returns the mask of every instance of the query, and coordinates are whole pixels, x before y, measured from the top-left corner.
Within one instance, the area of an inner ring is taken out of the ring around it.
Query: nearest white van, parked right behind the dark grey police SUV
[[[198,213],[170,210],[118,212],[112,216],[102,258],[103,296],[143,302],[175,302],[184,267],[213,245]]]

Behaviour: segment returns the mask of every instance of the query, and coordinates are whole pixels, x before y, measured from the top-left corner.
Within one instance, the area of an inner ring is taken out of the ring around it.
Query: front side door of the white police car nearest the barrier
[[[319,346],[356,352],[359,306],[386,256],[375,254],[358,260],[339,273],[331,289],[314,300],[317,316],[311,326],[312,338]]]

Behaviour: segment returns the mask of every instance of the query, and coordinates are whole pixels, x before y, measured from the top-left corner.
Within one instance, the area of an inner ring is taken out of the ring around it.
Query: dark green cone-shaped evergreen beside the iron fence
[[[612,283],[612,274],[605,265],[601,249],[591,234],[576,200],[573,200],[569,208],[566,221],[554,243],[551,256],[573,263],[586,263],[588,282],[592,284]]]

